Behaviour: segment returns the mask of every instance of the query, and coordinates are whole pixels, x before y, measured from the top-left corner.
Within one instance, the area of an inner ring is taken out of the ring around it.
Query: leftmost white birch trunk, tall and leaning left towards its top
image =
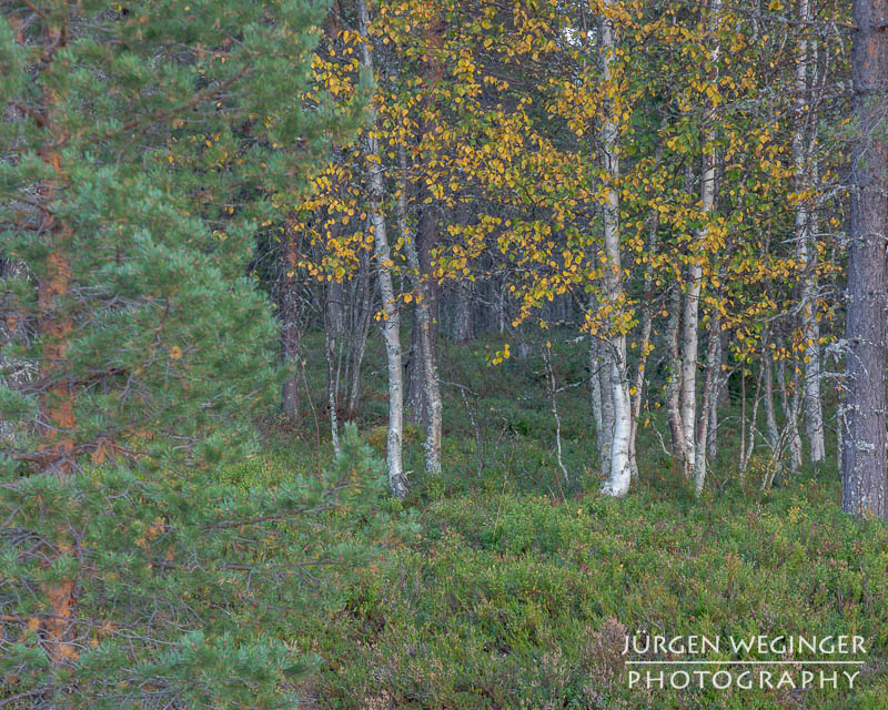
[[[361,44],[362,65],[364,71],[373,75],[373,52],[367,36],[367,9],[364,0],[357,0],[360,33],[364,38]],[[407,495],[407,481],[402,464],[402,443],[404,438],[404,375],[401,368],[401,317],[392,281],[392,254],[389,247],[389,235],[385,230],[385,217],[380,203],[383,196],[382,159],[379,139],[376,138],[376,113],[370,110],[370,130],[367,131],[370,215],[373,225],[373,250],[380,282],[380,294],[383,307],[383,336],[385,355],[389,364],[389,436],[386,457],[389,464],[389,485],[392,495],[403,498]]]

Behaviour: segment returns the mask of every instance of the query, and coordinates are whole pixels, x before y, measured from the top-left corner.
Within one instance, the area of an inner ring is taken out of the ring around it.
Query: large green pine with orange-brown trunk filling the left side
[[[0,693],[21,707],[272,707],[293,670],[233,609],[263,584],[292,608],[306,561],[236,532],[347,481],[213,481],[281,384],[255,230],[361,113],[307,92],[324,10],[2,6],[3,304],[27,324],[2,363],[37,373],[0,388]]]

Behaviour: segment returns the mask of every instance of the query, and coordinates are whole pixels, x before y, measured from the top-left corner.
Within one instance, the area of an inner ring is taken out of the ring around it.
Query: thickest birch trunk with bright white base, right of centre
[[[604,14],[598,19],[598,42],[602,73],[605,84],[614,81],[614,61],[616,61],[616,32],[612,18],[607,16],[612,8],[610,0],[603,3]],[[609,93],[609,92],[608,92]],[[607,194],[604,205],[604,244],[607,257],[605,276],[605,295],[613,305],[613,313],[620,311],[623,301],[623,267],[619,254],[619,192],[615,182],[619,179],[617,116],[613,105],[606,109],[602,126],[602,146],[604,169],[607,173]],[[626,368],[626,334],[622,324],[609,334],[605,346],[606,369],[610,374],[610,392],[614,403],[614,435],[610,443],[610,471],[603,491],[620,497],[629,490],[632,468],[629,450],[632,438],[632,407],[629,404],[628,373]]]

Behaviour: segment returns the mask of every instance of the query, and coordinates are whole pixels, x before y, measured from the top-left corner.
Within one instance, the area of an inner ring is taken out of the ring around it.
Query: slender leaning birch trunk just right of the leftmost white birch
[[[397,197],[397,223],[401,239],[404,242],[404,253],[407,256],[407,266],[413,284],[413,300],[416,304],[416,327],[420,329],[420,354],[422,356],[423,390],[427,407],[427,422],[425,429],[425,470],[432,476],[441,475],[441,385],[437,374],[437,363],[434,357],[434,343],[432,337],[432,300],[433,294],[428,285],[428,276],[420,265],[420,254],[416,251],[416,240],[407,225],[407,159],[402,148],[398,151],[401,162],[401,187]]]

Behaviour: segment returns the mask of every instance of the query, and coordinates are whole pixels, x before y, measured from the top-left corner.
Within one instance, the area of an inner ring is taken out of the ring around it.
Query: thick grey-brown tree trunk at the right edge
[[[885,306],[888,143],[888,0],[855,0],[851,44],[855,134],[845,355],[841,507],[888,519],[885,456]]]

